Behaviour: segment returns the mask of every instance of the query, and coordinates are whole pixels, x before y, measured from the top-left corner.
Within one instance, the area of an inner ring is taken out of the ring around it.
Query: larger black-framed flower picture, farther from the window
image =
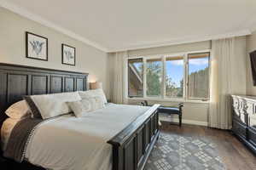
[[[26,31],[26,58],[48,61],[48,38]]]

